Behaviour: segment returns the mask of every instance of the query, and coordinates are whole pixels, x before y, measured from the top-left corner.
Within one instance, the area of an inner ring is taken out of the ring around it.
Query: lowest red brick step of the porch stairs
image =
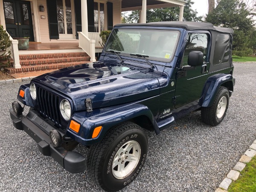
[[[38,66],[22,66],[19,69],[7,67],[6,70],[10,74],[27,73],[27,72],[37,72],[37,71],[47,71],[47,70],[58,70],[64,67],[71,67],[75,65],[89,63],[89,62],[90,61],[80,61],[80,62],[60,63],[60,64],[45,64],[45,65],[38,65]]]

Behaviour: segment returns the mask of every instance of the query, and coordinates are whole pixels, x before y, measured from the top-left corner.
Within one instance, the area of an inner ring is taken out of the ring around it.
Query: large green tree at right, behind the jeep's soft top
[[[217,0],[216,8],[207,15],[206,21],[215,26],[232,28],[233,54],[238,56],[253,53],[251,40],[253,38],[253,18],[250,9],[241,0]],[[254,33],[255,34],[255,33]]]

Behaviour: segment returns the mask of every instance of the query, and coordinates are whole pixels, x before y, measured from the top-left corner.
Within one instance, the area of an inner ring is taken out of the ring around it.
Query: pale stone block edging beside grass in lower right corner
[[[219,185],[219,188],[216,189],[215,192],[227,192],[226,190],[228,189],[232,181],[238,179],[240,172],[246,166],[245,163],[249,163],[252,157],[255,156],[255,154],[256,154],[256,140],[245,151],[245,153],[239,159],[239,162],[237,162],[236,165],[233,167],[233,169],[227,174],[226,178],[224,178],[224,180]]]

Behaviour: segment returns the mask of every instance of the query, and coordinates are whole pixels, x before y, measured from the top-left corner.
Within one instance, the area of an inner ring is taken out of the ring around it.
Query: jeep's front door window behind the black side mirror
[[[208,35],[205,33],[189,33],[185,52],[183,55],[183,62],[180,67],[188,65],[189,53],[191,51],[201,51],[204,54],[204,62],[207,61],[208,53]]]

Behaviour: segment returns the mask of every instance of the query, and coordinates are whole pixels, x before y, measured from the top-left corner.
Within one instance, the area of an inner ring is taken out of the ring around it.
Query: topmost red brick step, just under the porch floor
[[[35,60],[35,59],[43,59],[43,58],[66,58],[66,57],[86,57],[86,52],[64,52],[64,53],[42,53],[42,54],[26,54],[19,55],[20,60]]]

